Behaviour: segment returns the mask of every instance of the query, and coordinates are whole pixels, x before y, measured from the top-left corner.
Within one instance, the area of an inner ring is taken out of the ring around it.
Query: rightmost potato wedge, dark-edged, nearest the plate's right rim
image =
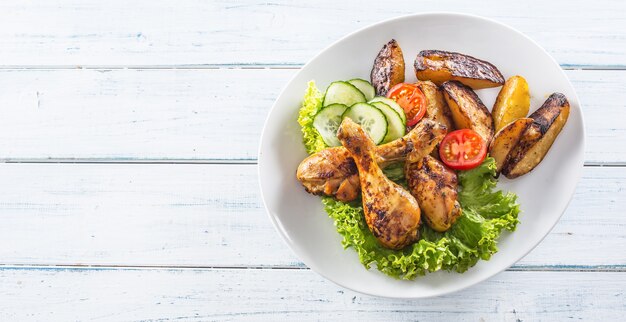
[[[569,110],[569,102],[565,95],[554,93],[530,115],[533,122],[511,150],[502,168],[502,173],[507,178],[513,179],[524,175],[543,160],[565,126]]]

